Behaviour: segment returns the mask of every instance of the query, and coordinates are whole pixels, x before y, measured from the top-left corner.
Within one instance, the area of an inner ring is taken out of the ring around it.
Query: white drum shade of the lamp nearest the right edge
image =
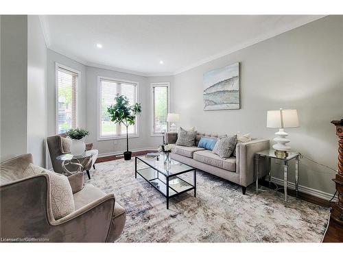
[[[298,112],[295,109],[268,110],[267,127],[299,127]]]

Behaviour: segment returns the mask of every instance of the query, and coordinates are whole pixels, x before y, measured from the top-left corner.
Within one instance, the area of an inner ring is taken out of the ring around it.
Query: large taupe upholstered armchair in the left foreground
[[[84,186],[83,174],[75,173],[68,177],[75,211],[56,220],[51,210],[49,175],[22,178],[29,163],[31,154],[0,164],[2,241],[113,242],[119,238],[126,210],[113,194],[106,195],[91,184]]]

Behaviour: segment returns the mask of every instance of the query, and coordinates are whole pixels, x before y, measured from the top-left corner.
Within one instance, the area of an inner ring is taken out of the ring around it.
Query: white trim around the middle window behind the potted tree
[[[104,141],[104,140],[113,140],[113,139],[126,139],[126,135],[124,136],[101,136],[101,128],[100,128],[100,117],[101,117],[101,101],[100,101],[100,79],[108,79],[108,80],[115,80],[118,82],[126,82],[131,84],[137,84],[137,103],[139,103],[139,82],[126,80],[126,79],[118,79],[115,77],[105,77],[105,76],[97,76],[97,141]],[[140,123],[140,115],[137,116],[137,133],[129,135],[129,138],[139,138],[139,123]]]

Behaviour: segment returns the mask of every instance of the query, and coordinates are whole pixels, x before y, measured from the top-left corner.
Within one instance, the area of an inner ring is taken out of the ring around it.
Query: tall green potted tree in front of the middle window
[[[125,95],[115,97],[115,104],[107,108],[110,114],[110,119],[114,123],[123,124],[126,126],[126,151],[124,151],[124,159],[131,160],[132,151],[128,150],[128,127],[136,123],[136,117],[141,114],[141,103],[135,103],[130,106],[129,100]]]

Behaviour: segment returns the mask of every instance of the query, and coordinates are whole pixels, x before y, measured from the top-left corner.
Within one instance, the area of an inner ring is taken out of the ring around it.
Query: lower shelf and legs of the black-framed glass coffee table
[[[167,199],[167,209],[169,209],[169,199],[176,197],[182,193],[194,190],[194,197],[196,197],[196,169],[193,169],[193,183],[182,180],[178,175],[166,176],[163,173],[159,173],[151,167],[137,169],[137,174],[151,184],[159,193],[161,193]],[[189,172],[189,171],[187,171]]]

